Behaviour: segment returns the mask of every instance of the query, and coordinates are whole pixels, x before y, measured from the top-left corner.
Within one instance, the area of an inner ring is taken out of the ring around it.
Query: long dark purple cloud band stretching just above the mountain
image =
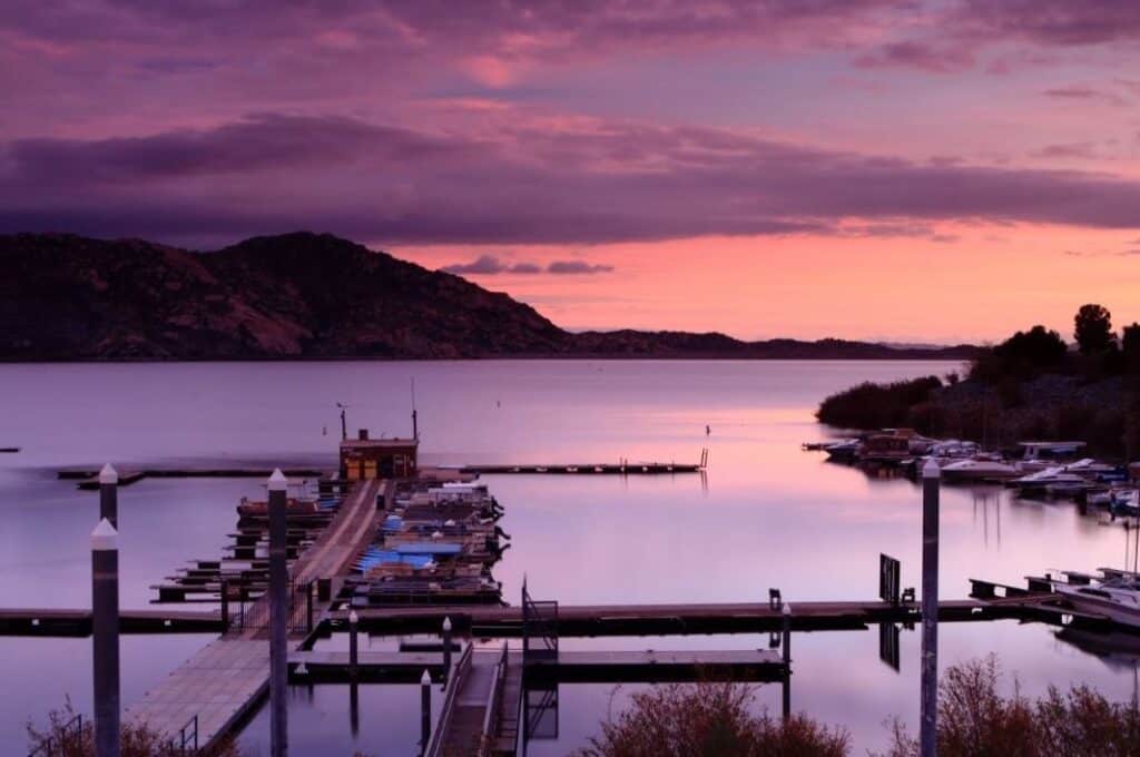
[[[915,163],[740,132],[511,119],[470,133],[260,115],[0,144],[0,230],[213,244],[292,228],[380,243],[886,235],[946,220],[1140,227],[1140,181]]]

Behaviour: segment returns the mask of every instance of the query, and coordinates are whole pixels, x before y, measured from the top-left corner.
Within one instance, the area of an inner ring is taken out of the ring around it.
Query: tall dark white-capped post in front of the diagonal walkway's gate
[[[285,565],[285,511],[288,481],[276,469],[269,477],[269,754],[285,757],[288,754],[288,576]]]

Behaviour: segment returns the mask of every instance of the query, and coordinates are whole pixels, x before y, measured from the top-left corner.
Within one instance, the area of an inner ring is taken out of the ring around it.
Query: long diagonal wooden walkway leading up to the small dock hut
[[[328,527],[291,567],[296,584],[340,575],[375,536],[380,513],[376,496],[383,482],[353,485]],[[328,602],[315,608],[324,617]],[[304,608],[300,609],[301,612]],[[308,633],[292,635],[296,646]],[[180,743],[188,725],[202,749],[215,744],[262,699],[269,686],[269,602],[262,597],[245,613],[244,628],[225,634],[184,662],[124,719],[147,725]]]

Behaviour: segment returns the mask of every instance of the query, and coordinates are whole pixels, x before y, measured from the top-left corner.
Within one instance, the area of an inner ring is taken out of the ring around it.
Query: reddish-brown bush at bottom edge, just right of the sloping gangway
[[[578,757],[842,757],[848,735],[797,715],[752,711],[754,690],[731,683],[669,684],[633,695]]]

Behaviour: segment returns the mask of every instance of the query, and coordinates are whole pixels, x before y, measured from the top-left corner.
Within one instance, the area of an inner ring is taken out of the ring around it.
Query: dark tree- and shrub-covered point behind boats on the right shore
[[[983,350],[944,378],[861,384],[828,397],[816,417],[846,429],[912,428],[934,437],[1008,446],[1075,439],[1107,455],[1140,453],[1140,324],[1083,306],[1074,343],[1033,326]]]

